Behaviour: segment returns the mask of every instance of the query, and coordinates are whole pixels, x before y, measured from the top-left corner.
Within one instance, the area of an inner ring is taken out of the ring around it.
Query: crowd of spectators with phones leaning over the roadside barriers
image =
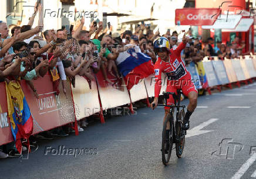
[[[157,54],[154,53],[153,42],[157,37],[164,36],[169,39],[171,47],[177,47],[181,42],[176,31],[170,33],[170,30],[167,30],[164,35],[160,35],[159,30],[153,33],[150,26],[144,23],[137,25],[134,32],[131,30],[122,33],[112,32],[112,26],[103,29],[102,22],[92,22],[90,29],[85,30],[83,18],[80,19],[79,26],[71,29],[72,32],[65,28],[46,29],[42,32],[41,22],[32,29],[33,19],[38,11],[42,11],[41,6],[35,8],[28,25],[12,25],[11,30],[5,22],[0,21],[0,82],[26,80],[35,98],[38,98],[38,93],[33,80],[40,80],[49,70],[58,70],[63,91],[66,93],[65,81],[70,81],[75,87],[75,75],[85,77],[89,85],[94,78],[93,74],[100,70],[107,82],[112,83],[107,78],[107,73],[122,78],[115,60],[120,52],[130,47],[138,46],[140,51],[150,56],[152,63],[155,63]],[[42,19],[40,14],[39,21]],[[192,37],[191,30],[188,31],[188,36],[189,42],[181,52],[186,64],[203,60],[205,56],[218,56],[223,59],[235,58],[245,53],[245,43],[240,43],[238,37],[235,37],[233,43],[217,42],[217,46],[213,47],[214,39],[211,37],[204,44],[200,38]],[[79,130],[82,131],[82,127],[86,125],[86,121],[81,121]],[[58,128],[35,137],[53,139],[52,135],[68,134],[63,128]]]

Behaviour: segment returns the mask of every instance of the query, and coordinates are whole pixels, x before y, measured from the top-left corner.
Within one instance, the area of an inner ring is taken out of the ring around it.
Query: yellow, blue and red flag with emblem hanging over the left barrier
[[[29,149],[29,136],[33,132],[33,118],[19,82],[5,82],[8,115],[11,122],[12,135],[19,153],[22,143]],[[25,139],[21,142],[21,139]]]

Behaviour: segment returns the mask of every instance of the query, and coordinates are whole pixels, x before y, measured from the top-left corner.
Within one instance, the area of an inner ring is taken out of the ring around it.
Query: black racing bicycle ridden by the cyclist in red
[[[180,105],[181,90],[177,89],[177,95],[175,92],[163,92],[165,102],[167,104],[167,99],[169,95],[173,95],[174,105],[159,104],[159,106],[170,107],[170,113],[164,119],[163,132],[162,132],[162,143],[161,143],[161,153],[162,161],[166,166],[169,163],[171,157],[171,150],[173,149],[173,143],[175,143],[176,156],[181,157],[184,145],[185,145],[185,135],[186,130],[183,130],[183,119],[185,116],[184,108],[185,105]],[[182,108],[180,110],[180,108]],[[174,123],[174,111],[176,111],[176,121]],[[174,125],[175,124],[175,125]],[[170,129],[170,130],[169,130]],[[167,133],[167,130],[169,130]]]

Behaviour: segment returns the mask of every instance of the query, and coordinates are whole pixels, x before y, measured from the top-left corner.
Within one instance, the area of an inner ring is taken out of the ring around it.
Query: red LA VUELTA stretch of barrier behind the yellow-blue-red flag
[[[66,95],[63,93],[60,85],[60,93],[56,95],[53,91],[53,84],[50,75],[46,75],[38,80],[33,80],[35,88],[38,91],[39,99],[33,95],[33,91],[21,80],[22,91],[26,97],[29,108],[33,116],[33,134],[50,130],[58,126],[75,122],[75,111],[73,108],[71,88],[68,83],[65,84]],[[11,133],[11,124],[7,117],[7,99],[5,92],[5,82],[0,84],[1,92],[1,128],[0,128],[0,145],[13,141]]]

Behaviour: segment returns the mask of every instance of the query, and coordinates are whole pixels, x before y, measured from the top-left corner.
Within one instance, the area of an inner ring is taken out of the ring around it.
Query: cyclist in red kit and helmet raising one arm
[[[154,101],[151,103],[151,108],[156,108],[158,104],[158,98],[161,90],[161,74],[164,73],[167,76],[167,92],[176,92],[177,89],[181,89],[183,94],[189,99],[187,106],[187,112],[184,117],[183,129],[189,129],[189,119],[197,106],[197,89],[194,82],[191,80],[191,75],[187,71],[184,62],[181,60],[181,50],[186,47],[188,38],[184,34],[182,42],[178,47],[170,49],[169,40],[165,37],[159,37],[154,41],[154,50],[158,54],[156,64],[154,64],[154,72],[156,77],[156,84],[154,85]],[[164,79],[163,79],[164,80]],[[154,107],[153,107],[154,104]],[[167,99],[167,105],[174,104],[173,96],[170,95]],[[165,114],[164,119],[170,112],[170,108],[164,107]]]

